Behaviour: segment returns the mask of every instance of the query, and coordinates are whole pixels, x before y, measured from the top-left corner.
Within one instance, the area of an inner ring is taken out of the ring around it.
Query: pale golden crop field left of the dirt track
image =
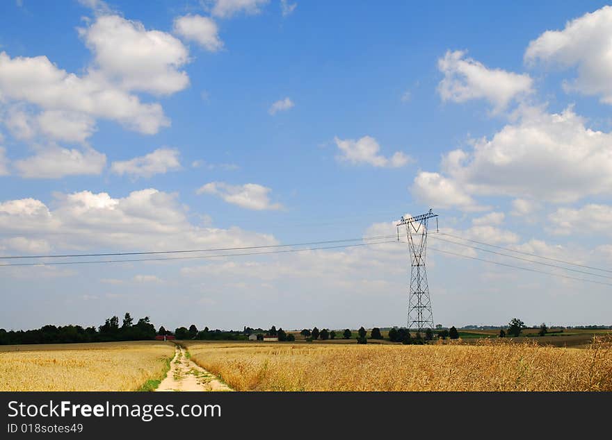
[[[133,391],[174,353],[158,341],[0,346],[0,391]]]

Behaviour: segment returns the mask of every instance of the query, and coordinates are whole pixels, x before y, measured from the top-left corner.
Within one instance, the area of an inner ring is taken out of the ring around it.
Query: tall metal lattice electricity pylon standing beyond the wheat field
[[[427,222],[436,217],[431,210],[417,217],[402,217],[397,223],[397,239],[399,241],[399,228],[405,226],[406,239],[408,239],[408,253],[410,253],[410,293],[408,296],[408,328],[420,332],[426,328],[434,328],[433,313],[431,312],[431,299],[427,285],[427,272],[425,269],[425,253],[427,246]]]

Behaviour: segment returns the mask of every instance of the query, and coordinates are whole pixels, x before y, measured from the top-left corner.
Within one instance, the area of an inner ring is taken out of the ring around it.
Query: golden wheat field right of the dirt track
[[[610,339],[556,348],[476,345],[184,343],[239,391],[612,391]]]

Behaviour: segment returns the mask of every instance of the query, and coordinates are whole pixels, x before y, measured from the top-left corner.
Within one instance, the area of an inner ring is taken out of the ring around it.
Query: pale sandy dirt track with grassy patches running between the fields
[[[232,391],[214,375],[188,358],[186,350],[177,346],[170,362],[170,371],[155,391]]]

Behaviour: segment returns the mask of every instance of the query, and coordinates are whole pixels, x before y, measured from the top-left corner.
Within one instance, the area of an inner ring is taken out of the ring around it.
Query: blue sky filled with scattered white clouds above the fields
[[[6,1],[0,253],[371,237],[433,208],[442,232],[606,269],[611,29],[589,1]],[[611,323],[608,285],[428,258],[435,322]],[[5,267],[0,327],[403,325],[406,259]]]

